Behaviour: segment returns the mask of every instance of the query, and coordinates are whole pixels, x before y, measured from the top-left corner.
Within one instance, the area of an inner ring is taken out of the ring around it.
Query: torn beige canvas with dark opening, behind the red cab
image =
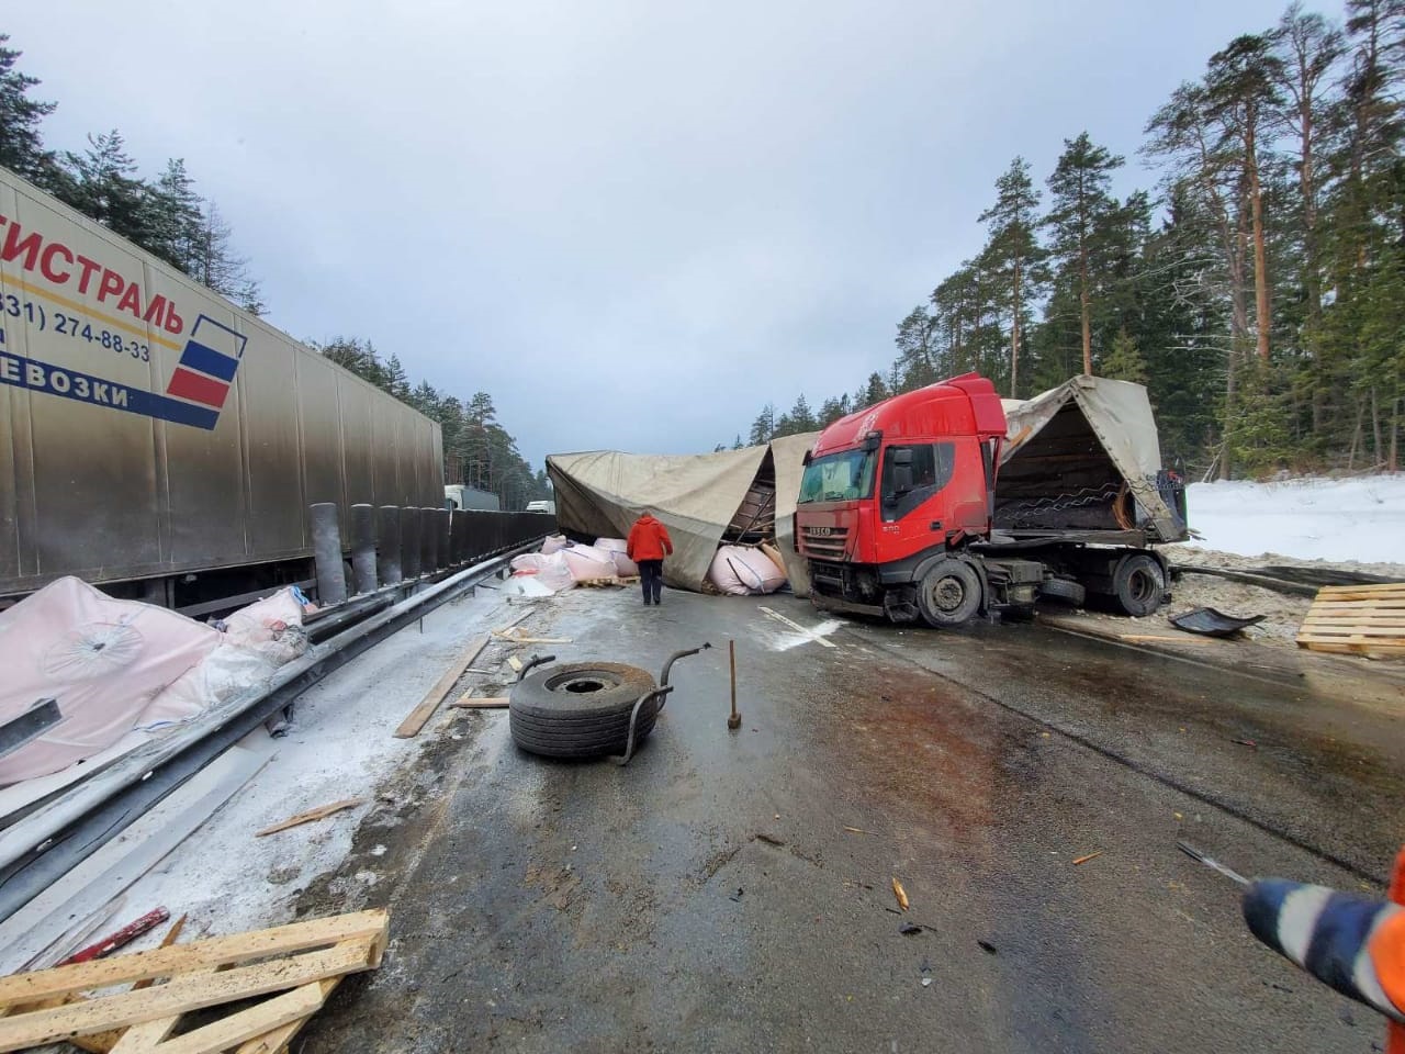
[[[1033,399],[1002,403],[1007,440],[998,500],[1020,485],[1075,493],[1116,472],[1117,483],[1127,485],[1161,540],[1183,537],[1182,524],[1156,489],[1161,441],[1142,385],[1075,377]]]

